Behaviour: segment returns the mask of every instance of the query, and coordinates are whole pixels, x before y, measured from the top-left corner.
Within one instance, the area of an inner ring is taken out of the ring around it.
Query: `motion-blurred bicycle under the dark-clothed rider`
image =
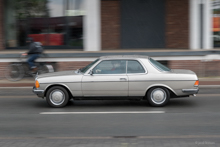
[[[41,57],[46,57],[46,54],[41,54]],[[54,68],[52,65],[46,63],[46,62],[35,62],[35,65],[37,66],[37,72],[32,73],[29,65],[25,60],[24,57],[26,57],[25,54],[20,55],[20,62],[13,62],[5,69],[5,77],[9,81],[19,81],[23,79],[24,77],[35,77],[36,74],[43,74],[48,72],[54,72]]]

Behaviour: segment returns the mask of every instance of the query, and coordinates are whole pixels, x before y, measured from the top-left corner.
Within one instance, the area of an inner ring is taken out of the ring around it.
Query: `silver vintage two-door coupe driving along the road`
[[[103,56],[84,68],[38,75],[33,92],[52,107],[74,100],[148,100],[164,106],[170,98],[189,97],[199,91],[197,75],[169,69],[148,56]]]

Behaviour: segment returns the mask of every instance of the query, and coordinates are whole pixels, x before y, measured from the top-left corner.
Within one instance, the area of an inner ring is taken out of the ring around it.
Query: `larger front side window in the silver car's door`
[[[106,60],[99,63],[94,69],[94,74],[125,74],[126,60]]]

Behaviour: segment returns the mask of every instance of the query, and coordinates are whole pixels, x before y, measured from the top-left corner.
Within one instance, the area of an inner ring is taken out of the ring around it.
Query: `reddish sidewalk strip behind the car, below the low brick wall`
[[[220,77],[212,78],[199,78],[200,88],[211,88],[219,87],[220,88]],[[0,80],[0,87],[33,87],[34,78],[28,77],[24,78],[21,81],[8,81],[7,79]]]

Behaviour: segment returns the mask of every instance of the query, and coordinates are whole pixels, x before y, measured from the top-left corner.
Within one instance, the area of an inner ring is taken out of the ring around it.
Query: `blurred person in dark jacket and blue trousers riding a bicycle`
[[[32,73],[37,72],[37,66],[34,64],[34,61],[40,57],[40,54],[43,52],[43,48],[40,42],[34,42],[33,38],[27,38],[27,45],[29,46],[29,51],[24,55],[29,55],[27,63],[31,69]]]

